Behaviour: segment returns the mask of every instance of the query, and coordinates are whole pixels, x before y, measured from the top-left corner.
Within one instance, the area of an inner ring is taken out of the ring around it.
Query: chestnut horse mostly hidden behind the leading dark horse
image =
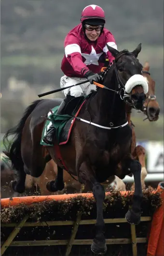
[[[148,86],[149,90],[148,93],[146,94],[146,101],[144,103],[142,111],[146,114],[148,120],[150,121],[156,121],[159,118],[159,113],[160,113],[160,107],[159,104],[156,100],[155,96],[155,81],[151,78],[150,76],[150,65],[149,62],[146,61],[143,69],[142,69],[142,75],[145,76],[148,80]],[[142,189],[145,188],[145,178],[147,176],[147,170],[146,170],[146,164],[145,164],[145,149],[138,145],[136,147],[136,134],[135,134],[135,127],[131,122],[131,111],[132,111],[132,106],[126,106],[126,115],[127,115],[127,120],[129,125],[132,126],[132,154],[135,159],[137,159],[142,168],[141,168],[141,186]],[[41,195],[52,195],[53,193],[48,191],[46,188],[46,180],[51,181],[55,180],[57,176],[57,165],[53,160],[50,160],[41,174],[39,178],[34,178],[31,176],[26,177],[26,184],[27,187],[30,189],[34,184],[37,184],[37,186],[40,188],[40,193]],[[74,179],[75,177],[71,177],[66,170],[63,172],[63,179],[65,182],[65,189],[62,190],[62,193],[79,193],[79,192],[86,192],[85,189],[82,189],[82,184],[79,181],[76,181]],[[108,190],[114,190],[114,189],[119,189],[122,191],[126,190],[124,182],[119,179],[117,176],[115,177],[114,181],[112,183],[109,183],[109,180],[105,181],[102,183],[105,186],[106,191]],[[131,187],[131,190],[134,190],[135,186],[134,184]]]

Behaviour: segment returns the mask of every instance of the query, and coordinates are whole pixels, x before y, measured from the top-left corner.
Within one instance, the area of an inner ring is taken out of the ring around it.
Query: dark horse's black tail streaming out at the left
[[[23,160],[21,156],[21,137],[22,131],[25,125],[25,122],[34,108],[40,103],[42,100],[36,100],[31,105],[29,105],[19,123],[14,127],[9,129],[5,136],[3,137],[3,145],[5,150],[3,153],[6,155],[6,160],[11,161],[12,167],[16,170],[20,170],[23,168]],[[12,141],[9,141],[9,136],[14,135]]]

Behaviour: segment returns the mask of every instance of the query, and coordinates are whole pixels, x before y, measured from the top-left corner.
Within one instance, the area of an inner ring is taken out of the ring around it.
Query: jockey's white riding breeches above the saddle
[[[67,87],[70,85],[75,85],[77,83],[80,83],[87,78],[79,78],[79,77],[68,77],[67,75],[64,75],[60,79],[60,87]],[[67,96],[68,92],[70,91],[70,95],[74,97],[79,97],[79,96],[86,96],[88,95],[91,90],[96,90],[96,85],[90,84],[90,82],[86,82],[82,85],[77,85],[68,89],[63,90],[63,93],[65,96]]]

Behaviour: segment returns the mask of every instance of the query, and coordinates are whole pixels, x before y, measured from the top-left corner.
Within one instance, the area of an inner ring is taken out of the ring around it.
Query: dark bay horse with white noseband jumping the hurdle
[[[109,176],[116,175],[123,179],[125,175],[133,173],[136,185],[133,205],[125,215],[131,224],[140,222],[143,197],[141,165],[131,155],[132,129],[125,111],[126,99],[134,108],[142,109],[148,92],[147,80],[142,76],[142,65],[137,60],[141,44],[133,52],[119,52],[107,47],[115,60],[103,74],[104,88],[97,88],[85,101],[78,115],[79,120],[75,121],[72,128],[69,142],[60,146],[69,172],[90,186],[96,199],[96,237],[91,246],[96,254],[105,254],[107,251],[103,232],[105,190],[100,183]],[[33,177],[41,176],[48,155],[58,166],[56,180],[48,185],[52,191],[64,187],[63,166],[56,158],[54,148],[45,148],[40,144],[45,122],[41,116],[45,116],[50,108],[60,103],[60,99],[35,101],[27,108],[17,127],[5,135],[4,144],[9,135],[15,134],[13,143],[4,152],[17,171],[17,179],[12,183],[14,191],[24,191],[26,173]]]

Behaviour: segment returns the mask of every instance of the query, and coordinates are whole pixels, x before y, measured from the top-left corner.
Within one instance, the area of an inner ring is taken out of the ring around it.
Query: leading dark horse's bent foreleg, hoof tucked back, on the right
[[[137,160],[129,160],[128,168],[134,175],[135,192],[132,208],[126,213],[125,218],[130,224],[137,225],[140,222],[141,201],[143,198],[141,186],[141,164]]]

